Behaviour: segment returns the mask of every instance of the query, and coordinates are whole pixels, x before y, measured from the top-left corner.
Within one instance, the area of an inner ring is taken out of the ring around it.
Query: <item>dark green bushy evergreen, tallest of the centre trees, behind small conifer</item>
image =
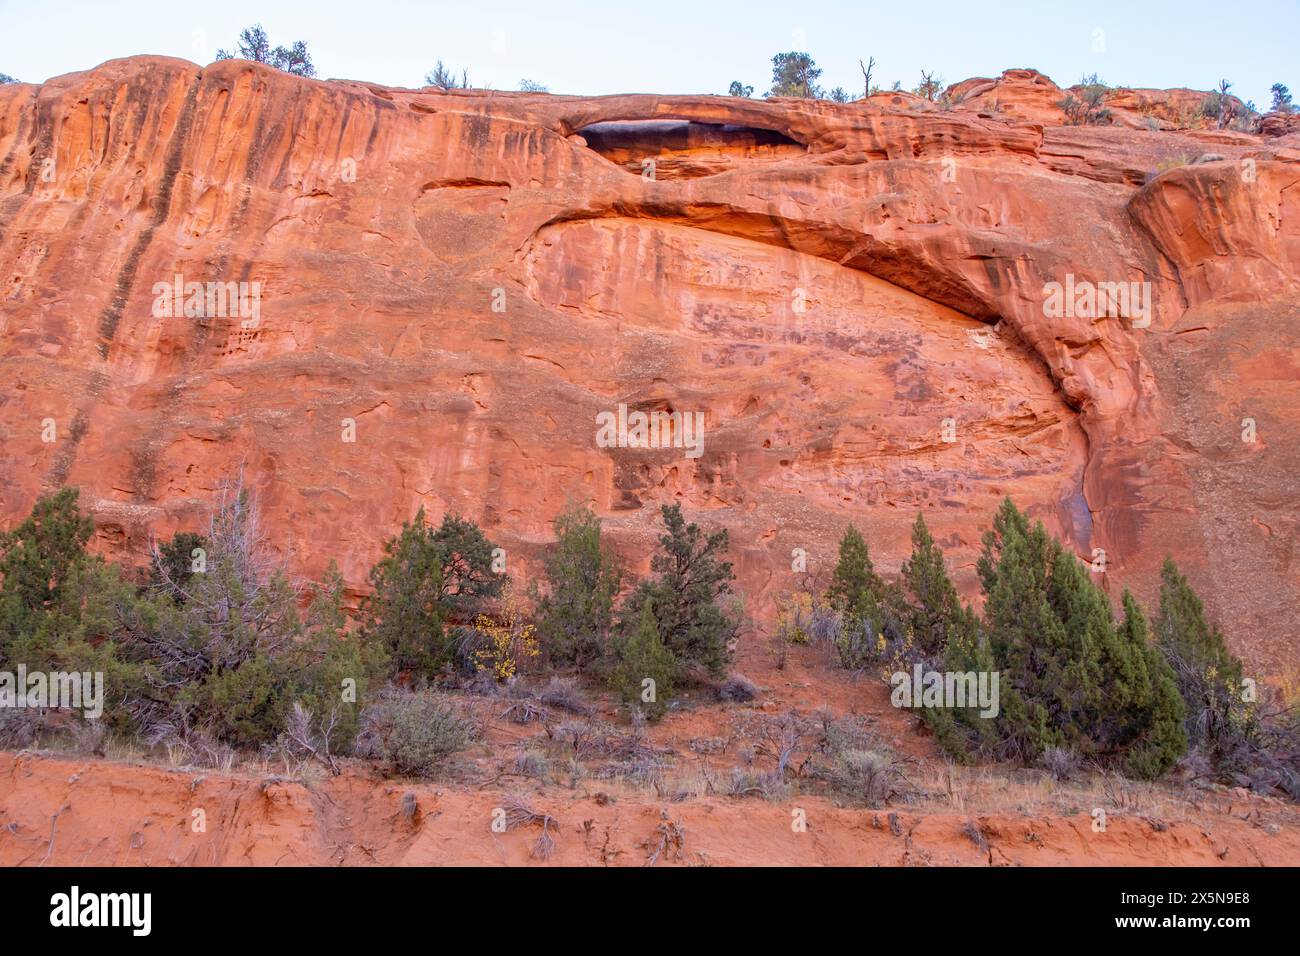
[[[686,523],[681,505],[662,509],[664,533],[659,551],[650,559],[656,575],[642,581],[628,596],[620,627],[637,626],[642,609],[653,602],[655,622],[664,644],[681,666],[697,665],[722,676],[729,658],[728,644],[740,630],[736,615],[722,606],[736,580],[727,553],[727,532],[706,535],[699,525]]]

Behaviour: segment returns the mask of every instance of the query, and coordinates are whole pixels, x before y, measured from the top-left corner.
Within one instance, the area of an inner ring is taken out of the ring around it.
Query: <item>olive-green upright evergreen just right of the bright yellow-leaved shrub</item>
[[[607,653],[614,600],[623,575],[601,544],[601,519],[582,505],[554,523],[546,558],[547,593],[538,602],[538,636],[552,661],[590,667]]]

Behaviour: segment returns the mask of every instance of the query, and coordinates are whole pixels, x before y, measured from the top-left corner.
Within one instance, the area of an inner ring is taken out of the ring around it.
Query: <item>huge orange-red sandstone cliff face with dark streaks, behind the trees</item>
[[[133,57],[0,87],[0,527],[78,485],[139,563],[242,467],[282,557],[337,559],[355,602],[421,503],[526,580],[569,499],[641,570],[680,501],[763,618],[792,549],[828,570],[853,522],[893,572],[918,510],[974,593],[1010,494],[1104,549],[1113,597],[1173,554],[1275,671],[1300,134],[1173,129],[1188,91],[1075,127],[1032,70],[967,86],[945,112]],[[260,284],[260,316],[156,315],[177,274]],[[1045,313],[1067,281],[1149,284],[1149,325]],[[599,447],[619,405],[703,412],[702,454]]]

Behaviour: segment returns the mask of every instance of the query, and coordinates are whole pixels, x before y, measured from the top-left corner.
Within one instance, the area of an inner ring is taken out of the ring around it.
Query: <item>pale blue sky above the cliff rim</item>
[[[1112,85],[1206,90],[1221,78],[1268,107],[1287,83],[1300,100],[1300,0],[889,0],[811,4],[707,0],[0,0],[0,73],[25,81],[133,53],[209,62],[255,22],[273,44],[307,40],[322,78],[420,86],[441,57],[474,86],[552,92],[767,90],[771,56],[806,49],[823,86],[874,79],[910,87],[920,69],[953,82],[1034,66],[1062,86],[1084,73]],[[1100,31],[1100,33],[1098,33]]]

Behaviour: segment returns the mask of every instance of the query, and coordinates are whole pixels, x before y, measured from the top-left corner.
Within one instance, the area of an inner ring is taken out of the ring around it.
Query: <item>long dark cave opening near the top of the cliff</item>
[[[807,152],[777,130],[693,120],[597,122],[578,135],[615,165],[653,179],[694,179]]]

